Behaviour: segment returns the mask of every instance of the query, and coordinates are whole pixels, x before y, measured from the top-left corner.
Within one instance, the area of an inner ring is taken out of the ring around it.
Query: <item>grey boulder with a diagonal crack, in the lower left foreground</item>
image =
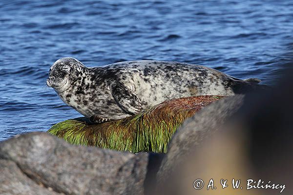
[[[73,146],[47,133],[29,133],[0,143],[0,192],[142,194],[147,163],[146,153]]]

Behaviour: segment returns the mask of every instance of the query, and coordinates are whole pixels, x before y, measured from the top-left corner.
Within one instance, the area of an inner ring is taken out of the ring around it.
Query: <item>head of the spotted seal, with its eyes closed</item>
[[[76,82],[76,76],[78,76],[84,68],[84,64],[77,59],[58,59],[51,66],[46,83],[57,93],[62,93],[66,91],[72,83]]]

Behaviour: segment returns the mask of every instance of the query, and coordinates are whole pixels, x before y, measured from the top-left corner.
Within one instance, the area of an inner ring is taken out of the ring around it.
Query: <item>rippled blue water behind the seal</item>
[[[292,0],[1,0],[0,140],[80,117],[45,85],[50,65],[156,59],[275,84],[292,64]]]

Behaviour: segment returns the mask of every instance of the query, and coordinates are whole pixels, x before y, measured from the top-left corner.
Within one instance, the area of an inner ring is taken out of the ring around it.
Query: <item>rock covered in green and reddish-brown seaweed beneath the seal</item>
[[[198,96],[164,101],[144,113],[101,124],[85,118],[60,122],[48,133],[69,143],[119,151],[166,153],[167,145],[183,121],[221,96]]]

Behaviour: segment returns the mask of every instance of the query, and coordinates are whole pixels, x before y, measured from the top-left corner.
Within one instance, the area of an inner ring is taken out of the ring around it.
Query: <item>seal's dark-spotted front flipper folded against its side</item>
[[[110,84],[110,90],[116,102],[126,113],[133,115],[142,111],[140,99],[124,83],[115,81]]]

